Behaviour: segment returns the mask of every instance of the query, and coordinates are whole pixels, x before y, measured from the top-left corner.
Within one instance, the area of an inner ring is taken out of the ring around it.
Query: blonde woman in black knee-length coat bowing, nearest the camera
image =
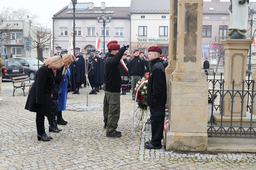
[[[51,97],[53,97],[53,86],[57,68],[63,66],[60,56],[53,56],[44,61],[36,72],[36,77],[28,94],[25,109],[36,112],[37,139],[50,141],[44,131],[44,116],[49,116],[51,109]]]

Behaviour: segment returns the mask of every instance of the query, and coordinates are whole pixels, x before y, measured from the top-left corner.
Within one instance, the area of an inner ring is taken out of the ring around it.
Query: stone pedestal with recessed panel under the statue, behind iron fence
[[[233,80],[234,90],[242,90],[243,80],[246,78],[246,62],[247,50],[253,40],[247,39],[226,39],[221,40],[225,49],[225,66],[224,66],[224,90],[232,90]],[[244,84],[245,85],[245,84]],[[232,92],[231,92],[232,93]],[[224,98],[223,116],[231,116],[231,109],[233,109],[233,116],[241,116],[241,97],[237,94],[234,98],[233,108],[231,96],[227,94]],[[243,103],[243,116],[246,116],[246,99]],[[220,109],[222,110],[222,109]]]

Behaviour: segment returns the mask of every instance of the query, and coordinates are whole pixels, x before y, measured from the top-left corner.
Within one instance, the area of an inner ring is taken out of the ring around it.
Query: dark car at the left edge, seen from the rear
[[[3,59],[4,66],[2,69],[3,79],[9,79],[9,77],[24,76],[24,68],[20,61]]]

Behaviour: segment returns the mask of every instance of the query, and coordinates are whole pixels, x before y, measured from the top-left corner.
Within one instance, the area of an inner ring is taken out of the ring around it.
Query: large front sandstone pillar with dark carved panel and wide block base
[[[209,83],[201,70],[202,21],[203,0],[178,1],[177,65],[170,80],[166,150],[206,150]]]

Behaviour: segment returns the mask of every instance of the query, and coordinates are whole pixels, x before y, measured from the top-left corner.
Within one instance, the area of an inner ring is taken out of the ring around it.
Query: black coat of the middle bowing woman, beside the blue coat
[[[56,80],[53,87],[53,97],[51,98],[51,114],[50,117],[53,117],[53,115],[57,115],[58,109],[59,109],[59,92],[61,89],[61,82],[63,82],[65,75],[62,75],[64,66],[62,66],[60,69],[56,71]]]

